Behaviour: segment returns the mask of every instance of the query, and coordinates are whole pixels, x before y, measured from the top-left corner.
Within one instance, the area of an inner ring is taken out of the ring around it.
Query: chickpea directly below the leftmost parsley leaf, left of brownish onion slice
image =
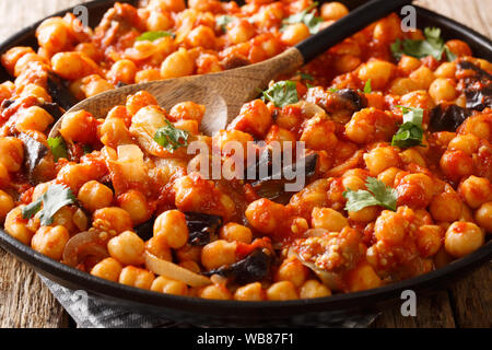
[[[60,260],[70,234],[63,226],[42,226],[33,236],[31,246],[51,259]]]

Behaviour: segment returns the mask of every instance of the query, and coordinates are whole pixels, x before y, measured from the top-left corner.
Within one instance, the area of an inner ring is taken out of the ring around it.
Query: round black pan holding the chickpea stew
[[[91,14],[90,24],[95,25],[114,2],[115,0],[97,0],[86,3]],[[136,3],[137,1],[121,2]],[[356,0],[347,2],[351,7],[361,3]],[[446,39],[462,39],[468,43],[476,57],[492,61],[490,39],[434,12],[417,9],[419,27],[441,27]],[[62,11],[59,15],[68,11],[71,10]],[[36,46],[34,33],[38,24],[25,28],[1,44],[0,54],[13,46]],[[3,68],[0,69],[1,81],[9,78]],[[492,257],[492,243],[489,241],[477,252],[442,269],[383,288],[314,300],[248,303],[167,295],[109,282],[55,261],[1,230],[0,245],[40,275],[67,288],[85,290],[108,303],[127,306],[134,312],[156,314],[169,320],[207,326],[340,325],[359,315],[377,312],[401,302],[400,295],[403,290],[413,290],[419,295],[441,290],[464,275],[469,275]],[[490,287],[484,285],[484,288]]]

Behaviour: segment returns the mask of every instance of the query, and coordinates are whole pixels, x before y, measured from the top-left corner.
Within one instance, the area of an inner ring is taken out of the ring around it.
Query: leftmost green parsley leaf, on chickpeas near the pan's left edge
[[[48,190],[42,197],[22,209],[22,218],[31,219],[40,210],[40,224],[47,226],[52,224],[52,217],[58,210],[74,202],[75,196],[70,188],[65,185],[55,184],[49,186]]]

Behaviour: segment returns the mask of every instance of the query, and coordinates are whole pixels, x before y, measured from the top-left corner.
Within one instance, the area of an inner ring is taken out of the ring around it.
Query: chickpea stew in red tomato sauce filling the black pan
[[[165,110],[145,91],[107,116],[71,113],[47,137],[70,101],[258,62],[347,13],[150,0],[116,3],[95,30],[71,14],[45,21],[37,51],[1,57],[15,77],[0,84],[4,230],[109,281],[239,301],[373,289],[480,248],[492,233],[492,63],[438,28],[403,33],[396,14],[272,81],[212,137],[204,106]],[[286,191],[274,145],[300,142],[305,183]],[[203,159],[248,171],[246,149],[266,174],[203,176]]]

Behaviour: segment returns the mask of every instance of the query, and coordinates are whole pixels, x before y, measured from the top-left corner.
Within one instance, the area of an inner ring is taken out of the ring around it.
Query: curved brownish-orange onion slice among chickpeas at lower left
[[[85,257],[95,256],[101,259],[109,257],[97,232],[81,232],[67,242],[63,250],[63,264],[77,267]]]

